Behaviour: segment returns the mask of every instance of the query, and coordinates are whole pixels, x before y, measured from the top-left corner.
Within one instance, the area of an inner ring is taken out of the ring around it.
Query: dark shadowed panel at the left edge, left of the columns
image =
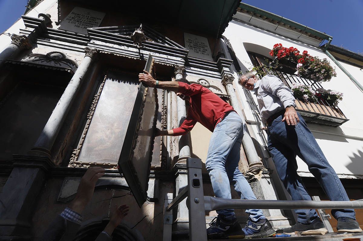
[[[19,82],[0,103],[0,159],[26,154],[42,132],[64,87]]]

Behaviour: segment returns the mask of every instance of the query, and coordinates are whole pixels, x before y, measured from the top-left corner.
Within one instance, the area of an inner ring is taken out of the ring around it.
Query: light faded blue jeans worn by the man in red
[[[217,198],[231,199],[231,180],[241,199],[256,199],[249,183],[238,169],[244,132],[241,117],[234,111],[229,112],[214,128],[205,166]],[[225,220],[236,218],[234,209],[217,210],[217,213],[219,218]],[[246,213],[253,221],[265,218],[261,209],[247,209]]]

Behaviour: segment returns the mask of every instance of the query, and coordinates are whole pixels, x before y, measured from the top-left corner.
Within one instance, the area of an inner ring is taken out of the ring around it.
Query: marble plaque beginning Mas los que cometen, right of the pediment
[[[190,33],[184,33],[185,48],[189,50],[188,56],[213,61],[212,51],[208,39]]]

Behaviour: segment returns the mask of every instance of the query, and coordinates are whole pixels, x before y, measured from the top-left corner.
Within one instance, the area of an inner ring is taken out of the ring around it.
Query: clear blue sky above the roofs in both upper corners
[[[363,0],[243,0],[333,36],[332,44],[363,53]],[[27,0],[0,0],[0,33],[25,11]],[[5,31],[6,32],[6,31]]]

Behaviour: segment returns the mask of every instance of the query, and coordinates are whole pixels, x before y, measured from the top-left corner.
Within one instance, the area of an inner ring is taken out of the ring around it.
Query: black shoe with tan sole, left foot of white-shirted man
[[[323,222],[317,218],[310,224],[296,223],[291,228],[283,230],[285,234],[301,234],[301,235],[324,235],[328,232]]]

